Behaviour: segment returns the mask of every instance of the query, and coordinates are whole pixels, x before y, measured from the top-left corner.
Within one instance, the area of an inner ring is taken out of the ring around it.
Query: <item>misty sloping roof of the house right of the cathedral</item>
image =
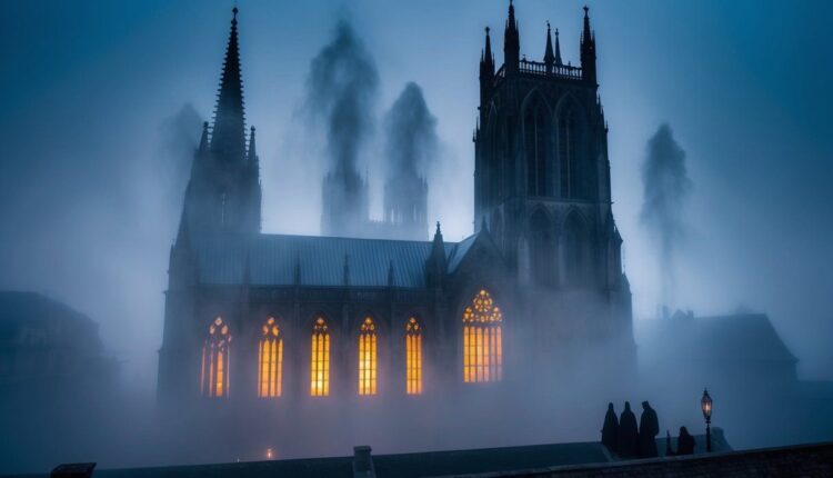
[[[640,353],[646,358],[700,361],[789,361],[786,348],[764,313],[634,321]],[[672,355],[668,351],[673,350]]]

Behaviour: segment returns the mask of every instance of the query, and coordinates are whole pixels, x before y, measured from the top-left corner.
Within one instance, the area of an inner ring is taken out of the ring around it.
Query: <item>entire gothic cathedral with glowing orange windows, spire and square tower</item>
[[[425,408],[461,394],[559,389],[585,362],[610,377],[635,365],[586,8],[579,66],[562,61],[549,26],[543,61],[522,58],[511,2],[500,68],[486,29],[478,226],[460,242],[445,241],[439,223],[425,240],[422,178],[404,198],[413,205],[385,191],[391,216],[418,211],[400,235],[410,240],[359,230],[367,186],[348,178],[352,189],[337,190],[339,171],[322,181],[331,236],[260,231],[237,13],[170,252],[160,405],[232,415],[272,407],[285,417],[320,412],[317,404],[344,414]]]

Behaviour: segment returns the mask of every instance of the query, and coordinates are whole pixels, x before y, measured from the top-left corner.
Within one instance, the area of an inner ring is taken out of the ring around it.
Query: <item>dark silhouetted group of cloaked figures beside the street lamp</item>
[[[636,428],[636,416],[631,410],[631,402],[625,401],[622,415],[616,418],[613,404],[608,404],[602,427],[602,445],[621,458],[653,458],[656,450],[656,435],[660,432],[660,420],[656,410],[648,401],[642,402],[642,416]],[[668,434],[666,434],[668,435]],[[694,452],[694,437],[685,427],[680,427],[676,452],[671,449],[671,437],[668,437],[665,455],[691,455]]]

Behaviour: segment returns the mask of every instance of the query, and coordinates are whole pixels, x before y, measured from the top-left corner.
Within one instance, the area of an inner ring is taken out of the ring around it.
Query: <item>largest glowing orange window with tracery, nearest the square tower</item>
[[[463,311],[463,381],[500,381],[503,378],[503,312],[486,290],[474,296]]]

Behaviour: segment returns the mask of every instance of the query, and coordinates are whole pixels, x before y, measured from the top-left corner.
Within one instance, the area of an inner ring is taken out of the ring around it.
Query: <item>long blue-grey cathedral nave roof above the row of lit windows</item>
[[[444,243],[449,271],[459,266],[474,237]],[[252,286],[292,286],[300,266],[301,286],[342,287],[348,269],[350,286],[388,287],[392,263],[395,287],[424,288],[432,247],[430,241],[285,235],[192,235],[191,241],[200,282],[242,283],[248,257]]]

